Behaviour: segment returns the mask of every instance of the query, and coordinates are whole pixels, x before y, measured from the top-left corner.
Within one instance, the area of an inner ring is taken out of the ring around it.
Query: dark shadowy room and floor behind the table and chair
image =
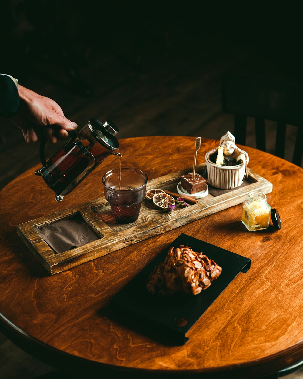
[[[0,72],[55,100],[79,127],[111,119],[118,138],[233,132],[221,105],[229,72],[302,84],[300,12],[285,4],[5,0],[0,12]],[[266,134],[273,153],[273,122]],[[287,127],[287,160],[294,138]],[[39,163],[38,144],[3,118],[0,147],[0,187]]]

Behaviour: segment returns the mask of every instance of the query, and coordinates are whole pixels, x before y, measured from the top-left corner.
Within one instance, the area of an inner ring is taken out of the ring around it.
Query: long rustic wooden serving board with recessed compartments
[[[203,168],[204,165],[201,165],[197,167],[196,171],[199,172]],[[150,180],[147,183],[147,189],[161,188],[164,191],[177,192],[176,186],[180,181],[180,176],[189,171],[190,169],[186,169]],[[122,249],[122,247],[240,204],[247,199],[251,191],[261,191],[266,194],[272,191],[272,183],[255,172],[249,170],[248,179],[252,183],[247,186],[236,188],[216,197],[208,194],[199,199],[198,204],[190,204],[187,208],[175,207],[175,210],[169,213],[156,208],[150,200],[144,199],[139,218],[131,224],[118,224],[114,221],[110,205],[105,197],[100,197],[94,201],[75,205],[72,208],[20,224],[17,226],[17,233],[48,273],[56,274]],[[52,224],[76,213],[83,217],[89,228],[99,238],[83,246],[56,254],[35,228]]]

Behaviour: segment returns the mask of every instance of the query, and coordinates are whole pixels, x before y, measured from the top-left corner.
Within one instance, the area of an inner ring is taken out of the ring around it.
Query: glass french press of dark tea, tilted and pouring
[[[66,143],[48,160],[44,155],[46,137],[39,154],[43,167],[35,171],[62,201],[80,182],[109,155],[119,155],[116,125],[91,118],[80,131],[69,132]]]

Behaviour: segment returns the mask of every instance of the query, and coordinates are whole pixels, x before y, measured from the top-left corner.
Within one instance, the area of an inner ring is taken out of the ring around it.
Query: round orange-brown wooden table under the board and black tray
[[[192,167],[195,138],[119,142],[122,166],[142,169],[149,180]],[[202,139],[197,164],[217,144]],[[2,331],[44,362],[91,377],[255,378],[302,360],[303,170],[245,150],[249,167],[273,184],[268,202],[280,213],[281,230],[248,232],[240,204],[53,276],[20,240],[16,226],[102,196],[102,175],[117,166],[117,158],[107,158],[62,203],[34,176],[39,165],[14,179],[1,191]],[[109,301],[181,233],[251,258],[251,268],[201,316],[185,345],[167,346],[114,321]]]

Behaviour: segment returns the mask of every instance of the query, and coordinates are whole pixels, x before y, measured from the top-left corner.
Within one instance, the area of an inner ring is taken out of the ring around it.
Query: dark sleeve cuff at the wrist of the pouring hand
[[[8,76],[0,75],[0,116],[12,117],[19,107],[19,92]]]

